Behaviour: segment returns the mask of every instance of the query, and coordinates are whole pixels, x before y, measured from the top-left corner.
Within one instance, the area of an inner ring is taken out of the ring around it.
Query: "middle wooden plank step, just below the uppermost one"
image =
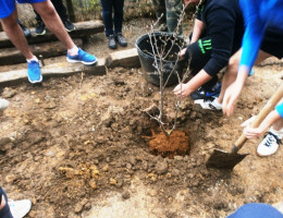
[[[74,39],[76,46],[82,47],[83,40]],[[37,58],[39,55],[46,58],[66,55],[66,49],[61,41],[42,43],[29,45],[30,50]],[[25,57],[16,48],[1,48],[0,49],[0,65],[10,65],[15,63],[26,62]]]

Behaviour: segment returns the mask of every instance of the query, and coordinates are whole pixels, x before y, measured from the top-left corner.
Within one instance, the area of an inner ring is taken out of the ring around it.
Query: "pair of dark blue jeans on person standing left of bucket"
[[[101,0],[101,4],[106,36],[122,33],[124,0]],[[112,17],[113,9],[114,17]]]

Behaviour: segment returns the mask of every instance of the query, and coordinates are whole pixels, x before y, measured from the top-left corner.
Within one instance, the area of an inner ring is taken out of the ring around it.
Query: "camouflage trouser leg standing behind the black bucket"
[[[173,33],[176,29],[179,20],[182,15],[183,0],[165,0],[165,10],[168,31]],[[179,26],[177,35],[183,37],[182,23]]]

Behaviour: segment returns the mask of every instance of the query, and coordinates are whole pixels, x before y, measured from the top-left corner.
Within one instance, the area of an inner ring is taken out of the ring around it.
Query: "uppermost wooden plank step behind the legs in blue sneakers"
[[[93,34],[102,33],[104,31],[103,23],[99,20],[78,22],[74,25],[76,29],[69,33],[72,38],[84,38]],[[29,45],[58,40],[57,37],[50,32],[42,36],[35,35],[35,28],[30,28],[30,32],[32,36],[27,38]],[[0,48],[9,47],[14,46],[10,41],[7,34],[4,32],[0,32]]]

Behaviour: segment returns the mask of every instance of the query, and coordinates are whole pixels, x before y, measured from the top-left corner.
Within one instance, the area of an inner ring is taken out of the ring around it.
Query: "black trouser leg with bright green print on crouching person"
[[[187,47],[185,59],[190,59],[189,70],[193,75],[196,75],[201,69],[204,69],[211,58],[211,46],[209,46],[209,41],[211,41],[210,37],[204,37]],[[210,81],[205,83],[202,88],[207,90],[211,89],[217,82],[218,76],[216,75]]]

